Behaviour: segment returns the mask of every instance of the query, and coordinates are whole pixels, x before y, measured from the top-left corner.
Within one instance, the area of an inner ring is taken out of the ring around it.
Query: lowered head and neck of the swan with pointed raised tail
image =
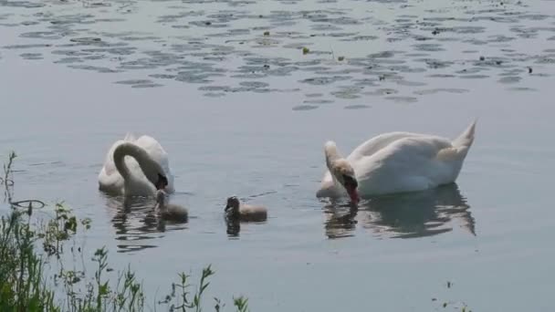
[[[333,178],[345,188],[349,197],[351,197],[352,203],[359,203],[361,200],[357,191],[359,182],[357,182],[351,163],[340,157],[340,152],[332,140],[326,142],[324,152],[326,154],[326,164]]]

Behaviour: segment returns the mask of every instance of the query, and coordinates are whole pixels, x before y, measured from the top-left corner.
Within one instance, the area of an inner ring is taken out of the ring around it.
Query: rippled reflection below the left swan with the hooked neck
[[[105,195],[111,215],[111,224],[116,230],[118,252],[126,253],[154,248],[152,239],[163,237],[164,232],[186,229],[186,224],[174,224],[163,220],[155,211],[156,202],[144,197],[123,199],[121,196]],[[171,225],[171,226],[166,226]]]

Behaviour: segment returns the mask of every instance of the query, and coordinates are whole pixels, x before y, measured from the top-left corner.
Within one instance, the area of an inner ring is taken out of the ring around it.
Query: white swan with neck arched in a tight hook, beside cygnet
[[[135,140],[131,134],[117,140],[99,173],[99,190],[125,196],[154,196],[173,192],[173,175],[166,151],[152,137]]]

